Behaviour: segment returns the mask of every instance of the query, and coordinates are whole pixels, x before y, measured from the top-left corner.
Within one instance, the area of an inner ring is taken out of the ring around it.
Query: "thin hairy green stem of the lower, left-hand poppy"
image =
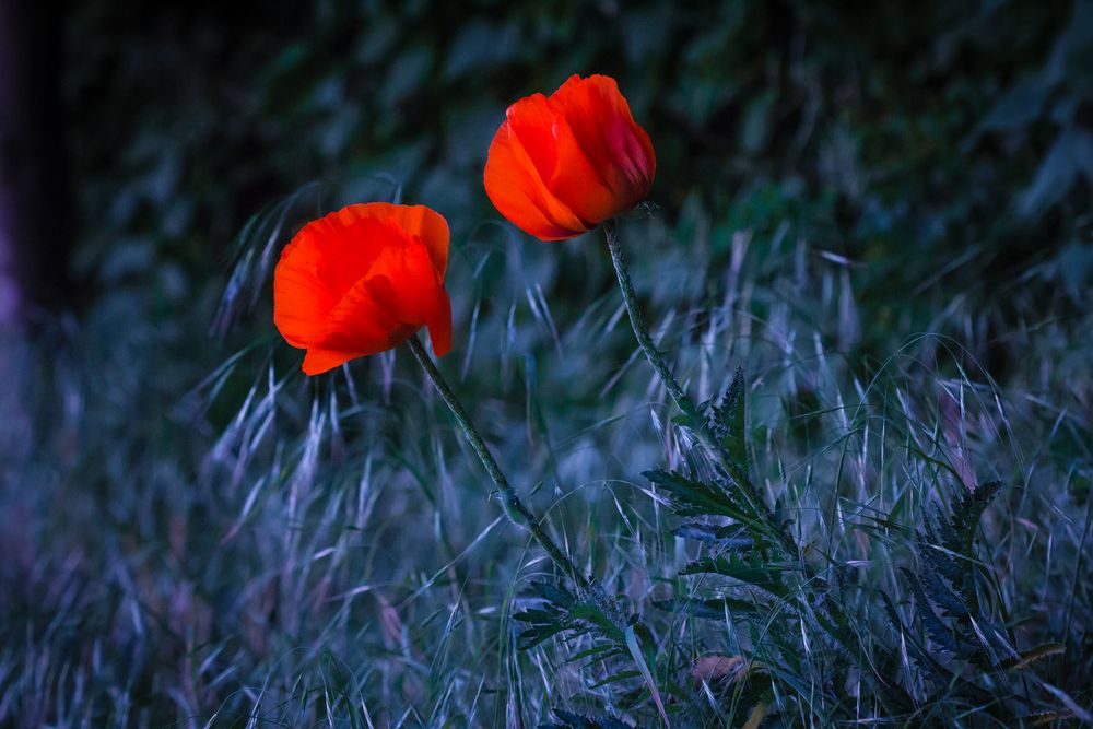
[[[462,404],[456,398],[455,392],[448,387],[448,383],[444,379],[440,371],[436,368],[433,360],[428,356],[428,352],[422,346],[421,340],[414,334],[409,340],[407,344],[410,348],[410,352],[413,353],[414,358],[421,368],[425,371],[425,375],[432,380],[433,387],[436,391],[440,393],[444,402],[448,405],[451,411],[453,416],[455,416],[456,422],[462,430],[463,435],[467,436],[468,443],[470,443],[471,448],[473,448],[475,455],[478,455],[479,460],[482,461],[482,466],[485,467],[486,473],[493,480],[494,484],[497,486],[497,491],[501,493],[501,504],[502,508],[505,509],[505,514],[508,516],[513,524],[524,527],[531,533],[532,539],[539,543],[541,548],[550,555],[554,564],[557,565],[559,569],[569,575],[573,580],[581,588],[587,588],[589,586],[588,579],[580,574],[573,562],[565,555],[565,553],[559,549],[554,540],[551,539],[550,534],[542,528],[539,519],[531,513],[531,510],[525,506],[524,502],[517,495],[516,490],[508,483],[508,479],[502,472],[501,467],[497,466],[497,461],[494,460],[493,455],[490,452],[490,448],[482,440],[482,436],[479,435],[478,428],[474,427],[474,423],[471,422],[470,415],[463,410]]]

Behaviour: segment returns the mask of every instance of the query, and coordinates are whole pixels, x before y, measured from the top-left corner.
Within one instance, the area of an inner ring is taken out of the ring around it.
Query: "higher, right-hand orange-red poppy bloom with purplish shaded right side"
[[[615,80],[572,75],[549,97],[508,107],[490,145],[485,191],[542,240],[572,238],[649,193],[657,157]]]

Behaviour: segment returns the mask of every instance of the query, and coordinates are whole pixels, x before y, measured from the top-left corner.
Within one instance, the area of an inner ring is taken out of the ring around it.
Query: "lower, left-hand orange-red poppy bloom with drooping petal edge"
[[[451,349],[447,264],[448,223],[439,213],[349,205],[305,225],[281,252],[273,324],[307,350],[308,375],[398,346],[422,327],[444,356]]]

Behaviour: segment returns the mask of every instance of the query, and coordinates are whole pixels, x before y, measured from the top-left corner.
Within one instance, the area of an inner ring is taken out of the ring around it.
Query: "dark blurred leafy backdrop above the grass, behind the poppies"
[[[8,2],[3,260],[25,319],[129,294],[176,318],[256,211],[380,174],[458,242],[496,217],[479,183],[505,106],[602,72],[656,140],[662,217],[708,219],[718,250],[788,223],[867,264],[862,294],[891,297],[870,330],[922,284],[1079,289],[1089,4],[909,8]]]

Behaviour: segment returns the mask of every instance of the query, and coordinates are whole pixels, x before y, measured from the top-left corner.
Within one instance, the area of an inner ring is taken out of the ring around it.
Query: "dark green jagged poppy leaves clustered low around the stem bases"
[[[710,409],[718,443],[732,449],[733,463],[745,462],[751,447],[745,436],[743,392],[743,378],[738,369],[729,386],[726,404]],[[741,468],[739,472],[748,478],[747,469]],[[983,712],[999,721],[1012,722],[1031,714],[1035,704],[1027,687],[1004,698],[992,695],[989,690],[999,680],[1003,662],[1011,668],[1026,667],[1038,657],[1051,655],[1050,650],[1037,649],[1024,661],[1012,636],[999,627],[999,616],[985,608],[978,596],[982,579],[978,575],[980,562],[973,550],[975,534],[984,512],[1001,490],[1000,481],[987,482],[954,499],[948,514],[939,504],[935,516],[925,519],[924,530],[917,532],[913,542],[906,543],[908,550],[917,552],[919,568],[901,567],[898,572],[905,593],[915,607],[916,624],[925,637],[900,615],[889,593],[880,590],[873,593],[873,609],[886,614],[898,640],[886,645],[888,640],[874,635],[869,639],[872,645],[868,645],[863,643],[859,614],[862,609],[868,611],[869,603],[850,607],[846,602],[849,586],[837,563],[832,562],[828,567],[836,578],[832,584],[815,573],[810,564],[812,561],[806,555],[799,555],[797,563],[772,562],[772,548],[781,542],[765,541],[769,527],[757,528],[747,507],[736,505],[728,487],[731,484],[727,481],[721,486],[712,486],[674,471],[655,470],[645,475],[658,487],[657,498],[677,515],[729,521],[725,525],[687,521],[674,530],[677,537],[707,545],[715,553],[682,566],[672,583],[675,597],[655,601],[654,607],[677,619],[690,616],[726,625],[742,621],[751,625],[752,647],[743,650],[743,659],[767,667],[767,682],[762,684],[765,691],[790,695],[807,684],[813,694],[818,691],[821,695],[826,694],[837,707],[837,686],[847,680],[848,670],[853,669],[892,717],[924,712],[930,716],[933,710],[930,707],[949,702],[982,705]],[[751,537],[752,533],[756,538]],[[729,581],[717,588],[721,591],[719,597],[696,599],[692,588],[679,579],[696,576],[728,578]],[[749,595],[752,588],[754,592]],[[579,636],[593,631],[602,642],[579,652],[580,659],[626,656],[621,622],[612,622],[596,607],[604,603],[602,598],[589,602],[555,588],[538,588],[537,591],[544,600],[544,609],[516,615],[517,620],[532,624],[521,634],[527,639],[525,648],[538,646],[562,633]],[[633,618],[631,624],[637,625]],[[754,633],[759,626],[765,635]],[[648,628],[643,630],[648,632]],[[703,645],[698,637],[702,631],[692,630],[695,654],[716,649],[715,645]],[[650,640],[646,645],[654,644]],[[910,658],[903,661],[903,671],[901,652]],[[826,656],[830,663],[826,668],[812,662],[820,656]],[[956,661],[974,667],[978,675],[969,678]],[[650,656],[650,662],[661,668],[663,685],[677,687],[670,693],[668,710],[691,721],[708,720],[708,717],[702,718],[706,715],[704,710],[689,705],[686,692],[679,690],[687,683],[691,663],[671,660],[670,654],[662,655],[659,661]],[[901,673],[902,677],[894,680]],[[636,672],[630,671],[607,681],[635,677]],[[597,685],[603,685],[603,681]],[[1022,685],[1027,686],[1027,683]],[[932,693],[924,693],[924,686],[931,686]],[[713,706],[729,709],[739,698],[737,692],[728,704],[714,702]],[[755,701],[759,699],[753,698],[752,703]],[[811,704],[809,710],[820,713],[815,704]],[[835,720],[839,712],[828,709],[823,716],[825,721]],[[573,721],[579,720],[583,719],[573,718]],[[927,720],[930,722],[932,719]]]

